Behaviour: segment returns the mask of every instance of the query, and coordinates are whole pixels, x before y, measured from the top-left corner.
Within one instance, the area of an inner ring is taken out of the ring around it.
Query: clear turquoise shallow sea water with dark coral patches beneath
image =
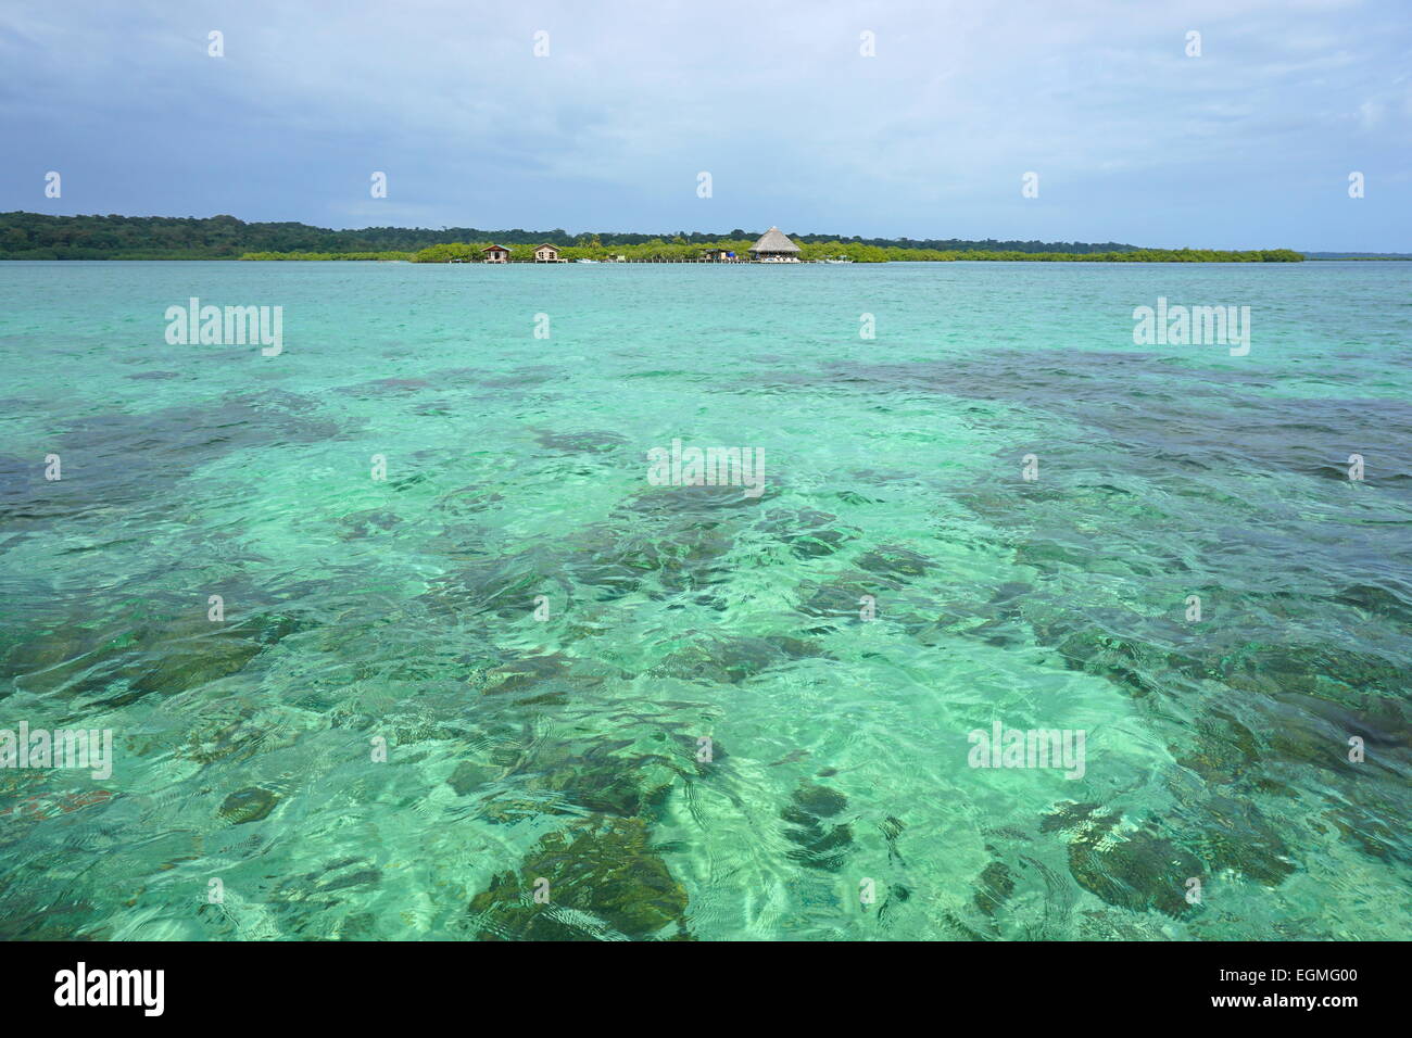
[[[116,761],[0,770],[0,932],[1405,938],[1409,290],[4,264],[0,727]],[[167,345],[192,295],[284,354]],[[1134,346],[1158,297],[1250,356]],[[651,486],[674,438],[764,496]],[[997,720],[1084,775],[970,767]]]

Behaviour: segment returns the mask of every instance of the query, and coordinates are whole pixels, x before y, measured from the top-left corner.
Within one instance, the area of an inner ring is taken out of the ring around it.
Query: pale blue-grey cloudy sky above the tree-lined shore
[[[1409,0],[4,0],[0,68],[0,210],[1412,253]]]

